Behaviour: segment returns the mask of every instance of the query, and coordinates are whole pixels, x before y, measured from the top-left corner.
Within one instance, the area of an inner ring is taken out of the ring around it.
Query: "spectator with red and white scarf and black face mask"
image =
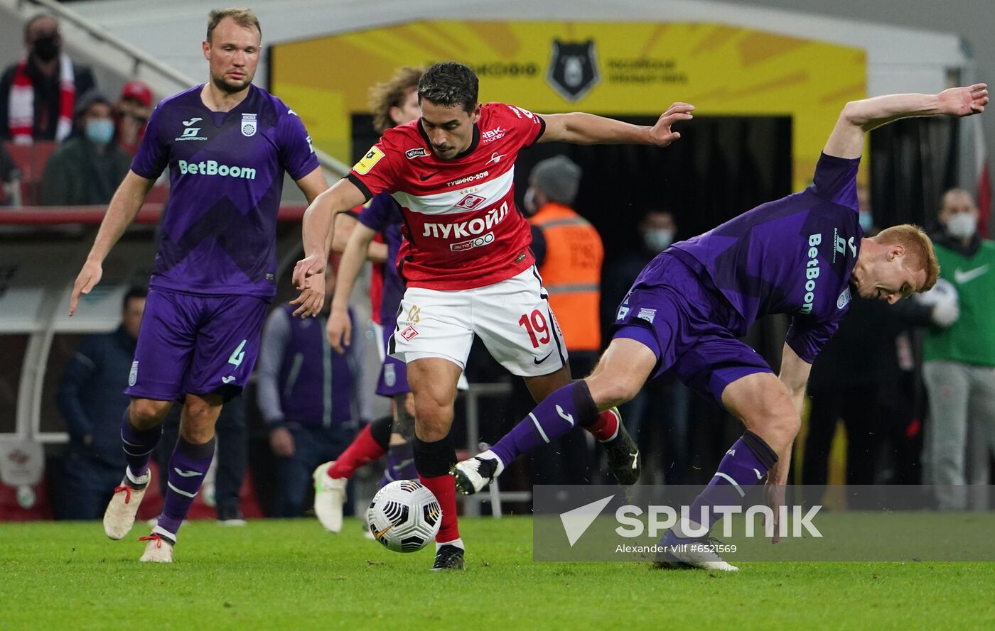
[[[63,54],[59,22],[41,14],[24,25],[27,55],[0,77],[0,139],[62,142],[73,131],[80,94],[97,86],[89,68]]]

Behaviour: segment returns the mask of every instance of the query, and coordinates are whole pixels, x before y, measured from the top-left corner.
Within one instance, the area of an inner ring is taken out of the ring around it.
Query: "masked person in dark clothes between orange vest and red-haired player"
[[[674,215],[650,209],[639,222],[638,243],[628,248],[605,274],[604,313],[608,324],[625,300],[636,276],[653,258],[674,242],[678,232]],[[690,484],[691,438],[688,426],[691,392],[674,375],[662,375],[632,400],[621,405],[622,417],[639,444],[643,462],[653,471],[644,483]],[[656,434],[656,435],[655,435]],[[659,445],[659,446],[658,446]],[[652,465],[652,468],[651,466]]]

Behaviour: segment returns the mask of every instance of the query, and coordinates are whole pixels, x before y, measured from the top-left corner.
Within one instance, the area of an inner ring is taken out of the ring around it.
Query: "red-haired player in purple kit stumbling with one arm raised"
[[[932,243],[917,227],[864,237],[856,179],[864,133],[909,116],[967,116],[987,102],[979,83],[847,103],[811,187],[654,258],[619,306],[612,342],[594,372],[549,395],[493,449],[455,465],[457,487],[480,491],[519,454],[631,399],[648,379],[673,370],[742,420],[746,431],[691,507],[690,515],[705,515],[707,523],[681,523],[667,533],[665,549],[674,551],[667,552],[667,562],[735,570],[714,552],[699,552],[708,547],[674,546],[706,539],[720,515],[701,509],[737,503],[743,489],[764,475],[765,500],[779,515],[809,370],[847,313],[851,292],[895,302],[936,282]],[[779,377],[738,340],[756,318],[771,313],[792,316]]]

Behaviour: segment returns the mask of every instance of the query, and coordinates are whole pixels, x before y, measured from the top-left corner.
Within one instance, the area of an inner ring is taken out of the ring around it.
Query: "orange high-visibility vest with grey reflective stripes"
[[[568,351],[601,350],[601,261],[598,231],[569,207],[550,202],[529,220],[546,239],[539,267]]]

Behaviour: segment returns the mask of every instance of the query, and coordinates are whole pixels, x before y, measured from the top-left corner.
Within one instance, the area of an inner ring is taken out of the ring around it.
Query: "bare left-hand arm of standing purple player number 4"
[[[80,296],[90,293],[90,291],[100,282],[103,275],[103,259],[107,252],[114,246],[117,239],[124,234],[124,230],[131,225],[141,205],[145,203],[145,196],[148,190],[155,184],[155,180],[149,180],[128,171],[124,180],[117,187],[114,196],[107,206],[107,214],[100,222],[100,230],[97,238],[94,239],[94,246],[90,248],[87,261],[83,264],[83,269],[76,277],[73,284],[73,296],[69,301],[69,314],[76,313],[76,307],[80,303]]]

